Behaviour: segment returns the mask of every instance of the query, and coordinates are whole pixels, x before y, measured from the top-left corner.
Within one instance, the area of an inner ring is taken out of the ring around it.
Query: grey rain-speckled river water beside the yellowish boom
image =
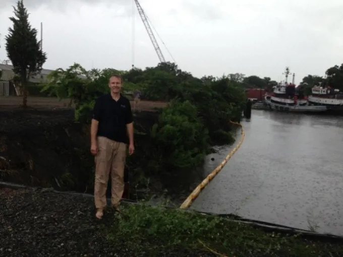
[[[253,110],[243,125],[241,148],[191,209],[343,235],[343,118]]]

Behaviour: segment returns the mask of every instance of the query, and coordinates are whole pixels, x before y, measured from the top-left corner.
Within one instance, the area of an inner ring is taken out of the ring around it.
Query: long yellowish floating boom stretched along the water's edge
[[[238,122],[230,122],[241,127],[241,140],[238,142],[236,147],[225,157],[225,159],[214,170],[212,170],[211,173],[208,174],[208,176],[193,190],[193,192],[189,195],[185,202],[183,202],[183,204],[180,206],[180,209],[187,209],[191,206],[193,201],[199,196],[201,190],[219,173],[219,171],[225,166],[227,161],[230,160],[230,158],[241,147],[245,137],[243,125]]]

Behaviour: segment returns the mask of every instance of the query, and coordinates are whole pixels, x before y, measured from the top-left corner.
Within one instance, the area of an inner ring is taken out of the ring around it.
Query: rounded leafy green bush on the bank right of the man
[[[163,109],[151,129],[151,138],[164,165],[170,168],[198,166],[208,148],[208,131],[189,101],[174,100]]]

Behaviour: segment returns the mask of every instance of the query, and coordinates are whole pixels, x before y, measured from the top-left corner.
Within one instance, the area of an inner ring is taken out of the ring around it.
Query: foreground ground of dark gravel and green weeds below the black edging
[[[265,232],[224,217],[139,204],[94,218],[93,199],[0,188],[1,256],[341,256],[339,242]],[[215,253],[216,252],[216,253]]]

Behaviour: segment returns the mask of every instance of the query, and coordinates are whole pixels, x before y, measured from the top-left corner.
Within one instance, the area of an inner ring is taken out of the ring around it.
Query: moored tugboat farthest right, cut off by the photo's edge
[[[331,87],[315,86],[308,101],[313,106],[326,106],[329,112],[343,113],[343,92]]]

